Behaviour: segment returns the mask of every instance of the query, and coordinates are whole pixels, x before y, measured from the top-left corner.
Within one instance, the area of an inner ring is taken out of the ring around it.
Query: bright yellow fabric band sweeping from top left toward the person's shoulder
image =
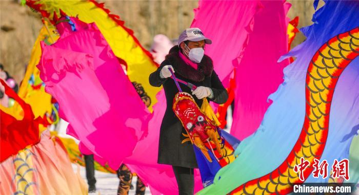
[[[157,69],[157,66],[124,27],[118,25],[116,21],[109,17],[106,11],[97,7],[91,1],[40,0],[35,2],[35,5],[39,4],[41,5],[41,10],[50,14],[51,19],[54,11],[57,16],[60,16],[59,9],[61,9],[68,16],[78,16],[85,23],[96,23],[114,54],[126,61],[129,79],[132,82],[142,84],[145,92],[151,98],[151,104],[148,109],[152,112],[152,105],[157,101],[155,95],[161,88],[151,86],[148,77],[150,73]]]

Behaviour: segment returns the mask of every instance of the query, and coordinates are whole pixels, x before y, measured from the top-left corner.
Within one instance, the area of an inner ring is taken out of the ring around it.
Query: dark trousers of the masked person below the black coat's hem
[[[193,168],[172,166],[176,177],[179,195],[193,195],[194,175]]]

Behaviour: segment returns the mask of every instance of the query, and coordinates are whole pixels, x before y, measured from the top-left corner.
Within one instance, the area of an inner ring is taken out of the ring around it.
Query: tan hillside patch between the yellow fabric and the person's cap
[[[125,21],[145,48],[156,34],[170,39],[189,28],[197,1],[106,1],[105,6]]]

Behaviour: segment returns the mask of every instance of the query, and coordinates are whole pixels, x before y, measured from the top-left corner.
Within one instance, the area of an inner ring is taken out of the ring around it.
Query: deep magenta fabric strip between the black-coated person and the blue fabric
[[[253,32],[243,58],[235,67],[234,115],[231,134],[243,140],[260,126],[270,102],[267,100],[283,82],[289,60],[277,60],[288,51],[285,1],[261,1],[263,9],[254,16]]]

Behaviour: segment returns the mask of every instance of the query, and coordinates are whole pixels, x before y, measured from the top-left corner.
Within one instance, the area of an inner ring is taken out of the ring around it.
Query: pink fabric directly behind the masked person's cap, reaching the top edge
[[[212,40],[205,54],[212,58],[214,71],[225,88],[234,64],[242,58],[253,17],[260,9],[258,1],[200,1],[194,9],[191,27],[200,28]]]

